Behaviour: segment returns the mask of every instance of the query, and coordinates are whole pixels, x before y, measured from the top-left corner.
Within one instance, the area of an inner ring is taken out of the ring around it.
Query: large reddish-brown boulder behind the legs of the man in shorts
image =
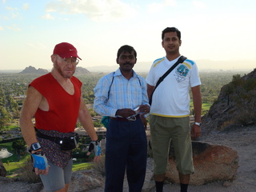
[[[194,174],[190,176],[190,185],[203,185],[207,182],[232,181],[238,169],[238,153],[227,146],[211,145],[205,142],[192,142]],[[170,160],[166,178],[179,183],[175,157],[170,150]]]

